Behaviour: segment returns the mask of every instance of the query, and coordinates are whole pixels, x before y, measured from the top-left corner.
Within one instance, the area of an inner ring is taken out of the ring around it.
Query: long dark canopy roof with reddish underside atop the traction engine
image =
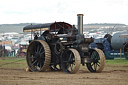
[[[56,32],[59,29],[69,30],[72,29],[72,25],[66,22],[54,22],[54,23],[45,23],[37,25],[28,25],[23,28],[23,32],[34,32],[34,31],[45,31],[49,30],[50,32]]]

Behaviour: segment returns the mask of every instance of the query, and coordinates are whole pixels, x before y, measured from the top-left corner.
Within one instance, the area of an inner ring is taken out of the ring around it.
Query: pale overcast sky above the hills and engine
[[[77,14],[87,23],[128,25],[128,0],[1,0],[0,24],[50,23],[77,24]]]

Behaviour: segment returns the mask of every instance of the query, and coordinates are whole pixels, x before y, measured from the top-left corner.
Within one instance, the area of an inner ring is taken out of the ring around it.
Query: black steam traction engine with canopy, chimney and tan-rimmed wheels
[[[35,33],[27,49],[28,68],[33,72],[63,70],[76,73],[80,64],[90,72],[101,72],[105,65],[104,53],[89,49],[92,38],[84,38],[83,14],[78,14],[78,29],[66,22],[29,25],[24,32]]]

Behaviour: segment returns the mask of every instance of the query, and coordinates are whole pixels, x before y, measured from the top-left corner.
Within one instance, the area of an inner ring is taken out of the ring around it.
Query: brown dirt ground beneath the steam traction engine
[[[107,65],[102,73],[81,67],[77,74],[0,68],[0,85],[128,85],[128,66]]]

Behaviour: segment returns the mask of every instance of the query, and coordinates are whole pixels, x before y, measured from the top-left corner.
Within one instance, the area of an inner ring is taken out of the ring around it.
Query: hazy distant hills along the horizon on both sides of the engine
[[[30,24],[38,24],[38,23],[20,23],[20,24],[0,24],[0,33],[5,32],[18,32],[22,33],[23,28]],[[101,27],[127,27],[125,24],[119,24],[119,23],[92,23],[92,24],[84,24],[84,29],[95,29],[95,28],[101,28]]]

